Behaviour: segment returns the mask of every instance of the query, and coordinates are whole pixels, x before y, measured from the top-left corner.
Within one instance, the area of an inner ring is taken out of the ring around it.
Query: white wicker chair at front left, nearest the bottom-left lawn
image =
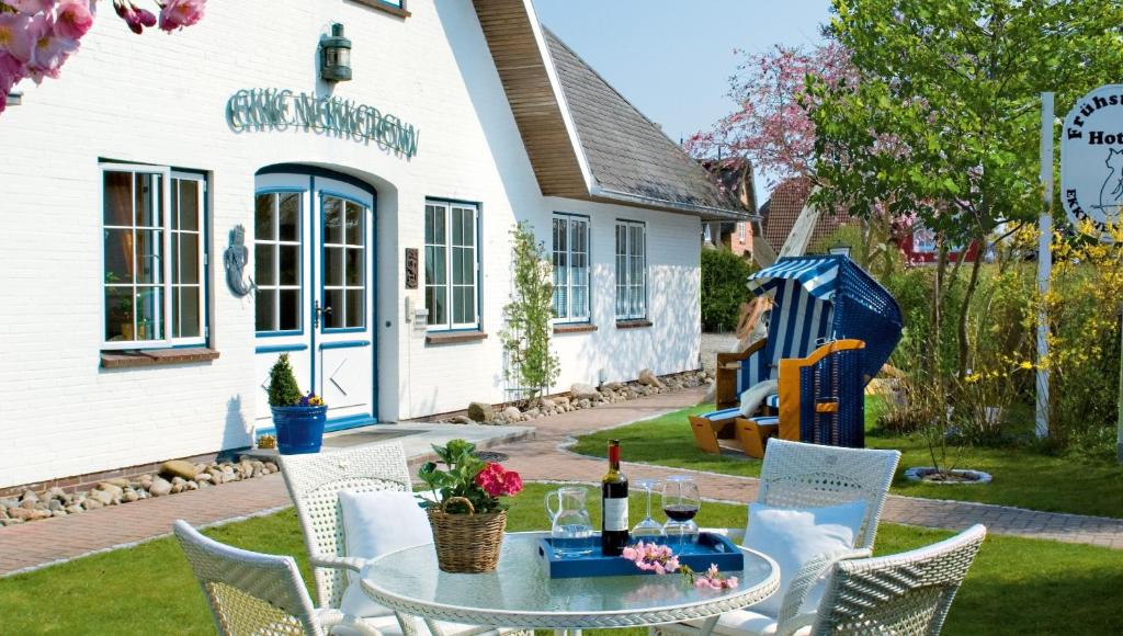
[[[381,636],[394,620],[383,617],[376,624],[345,617],[338,610],[314,608],[291,556],[258,554],[220,544],[182,519],[175,521],[174,533],[207,597],[214,627],[222,636],[320,636],[334,627]],[[412,628],[401,627],[403,634],[416,634]]]

